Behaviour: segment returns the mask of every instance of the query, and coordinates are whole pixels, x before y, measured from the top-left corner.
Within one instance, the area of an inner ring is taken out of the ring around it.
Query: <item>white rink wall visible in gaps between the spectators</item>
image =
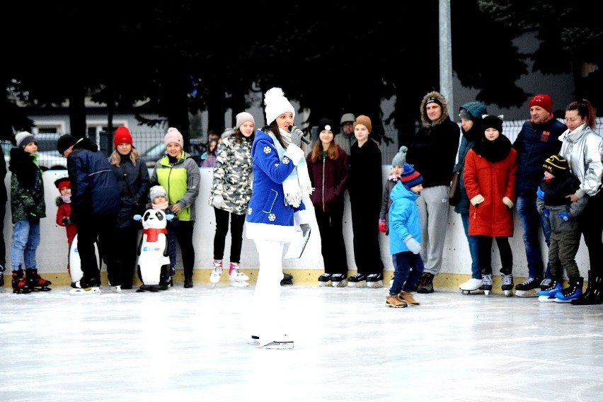
[[[197,222],[195,224],[195,232],[193,234],[195,244],[195,268],[210,268],[212,265],[213,255],[213,239],[215,231],[214,209],[209,207],[207,202],[209,198],[209,189],[212,183],[212,168],[200,168],[201,171],[201,192],[197,198]],[[391,171],[391,165],[383,166],[383,177],[385,180]],[[6,185],[10,189],[10,172],[6,176]],[[55,223],[57,214],[57,205],[55,200],[59,195],[57,188],[54,187],[54,180],[59,177],[67,176],[67,171],[46,171],[44,173],[45,183],[45,202],[47,217],[41,221],[41,237],[40,246],[38,248],[38,269],[40,272],[66,272],[67,270],[67,235],[62,226]],[[10,190],[8,194],[10,198]],[[10,201],[9,201],[10,202]],[[314,208],[309,200],[304,200],[306,207],[310,210]],[[312,231],[308,246],[304,255],[299,260],[285,260],[285,268],[300,268],[323,270],[323,260],[321,255],[320,233],[316,227],[314,214],[311,226]],[[377,226],[377,222],[375,222]],[[350,204],[346,193],[345,212],[344,212],[344,238],[346,249],[348,251],[348,266],[350,270],[356,270],[354,263],[354,250],[352,247],[352,223],[350,218]],[[449,210],[449,219],[447,222],[447,236],[444,243],[444,262],[441,272],[449,272],[455,274],[469,274],[471,272],[471,258],[469,256],[469,248],[467,246],[466,237],[463,231],[463,225],[459,215],[456,214],[452,207]],[[6,241],[6,264],[10,265],[10,246],[12,236],[12,224],[10,204],[7,205],[7,213],[4,220],[4,236]],[[379,232],[379,241],[381,242],[381,260],[385,265],[385,270],[393,271],[394,267],[391,263],[391,255],[389,255],[389,237]],[[522,229],[519,226],[519,221],[515,217],[515,235],[510,239],[513,250],[513,274],[515,276],[527,276],[527,263],[525,251],[522,242]],[[541,236],[541,243],[546,249],[544,238]],[[230,250],[230,239],[227,236],[226,250],[224,259],[228,261]],[[546,255],[545,258],[546,260]],[[580,250],[576,258],[578,267],[582,276],[587,276],[589,269],[588,255],[584,242],[580,244]],[[255,251],[253,241],[245,239],[243,234],[243,250],[241,251],[241,267],[243,268],[258,268],[258,253]],[[182,268],[180,262],[178,269]],[[498,250],[493,246],[493,272],[498,273],[500,268],[500,258]],[[103,267],[103,270],[106,268]]]

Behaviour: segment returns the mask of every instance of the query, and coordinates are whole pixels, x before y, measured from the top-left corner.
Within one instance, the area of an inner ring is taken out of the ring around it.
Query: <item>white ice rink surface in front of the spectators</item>
[[[5,288],[0,401],[603,401],[603,306],[294,285],[294,349],[264,350],[253,290]]]

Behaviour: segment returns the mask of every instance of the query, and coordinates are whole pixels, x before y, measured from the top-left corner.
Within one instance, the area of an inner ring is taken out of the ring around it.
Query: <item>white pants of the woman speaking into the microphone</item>
[[[285,315],[280,305],[285,241],[254,239],[254,242],[260,257],[260,270],[253,294],[251,335],[259,336],[260,341],[279,340],[281,335],[289,335],[284,329]]]

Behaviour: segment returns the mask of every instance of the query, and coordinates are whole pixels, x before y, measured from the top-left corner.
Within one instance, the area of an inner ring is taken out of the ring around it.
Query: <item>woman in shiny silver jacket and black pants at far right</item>
[[[571,173],[580,180],[580,188],[570,200],[589,197],[585,210],[580,214],[580,230],[588,248],[590,270],[586,292],[572,304],[601,304],[603,302],[603,138],[592,129],[595,127],[595,110],[586,99],[575,101],[565,108],[565,125],[568,130],[559,139],[559,154],[567,159]]]

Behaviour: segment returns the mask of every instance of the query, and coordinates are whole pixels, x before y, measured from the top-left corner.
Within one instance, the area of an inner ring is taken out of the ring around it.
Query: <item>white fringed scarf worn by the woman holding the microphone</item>
[[[280,131],[283,142],[285,142],[285,147],[288,147],[289,144],[291,144],[291,133],[282,130],[280,127],[278,130]],[[277,149],[279,159],[282,160],[285,155],[285,149],[280,146],[280,142],[278,142],[274,134],[269,133],[269,135],[274,139],[274,146]],[[309,197],[311,195],[314,188],[312,188],[312,183],[310,181],[306,159],[300,159],[296,168],[289,173],[289,176],[287,176],[282,183],[282,190],[285,193],[285,205],[292,205],[296,208],[302,203],[304,196]]]

